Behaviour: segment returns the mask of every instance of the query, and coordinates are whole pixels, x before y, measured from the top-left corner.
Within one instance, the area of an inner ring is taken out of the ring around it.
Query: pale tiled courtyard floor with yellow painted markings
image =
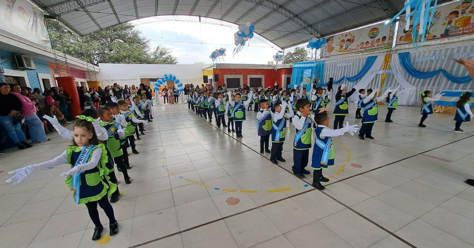
[[[351,116],[354,106],[351,105]],[[331,179],[314,190],[312,176],[294,177],[288,128],[286,163],[258,153],[253,112],[243,139],[219,130],[186,105],[153,107],[154,122],[131,155],[132,184],[113,204],[120,233],[92,242],[93,225],[73,203],[61,166],[12,186],[7,171],[57,156],[69,144],[50,142],[0,157],[0,247],[473,247],[474,125],[453,132],[453,115],[399,107],[394,123],[378,122],[375,140],[335,138]],[[380,107],[383,120],[385,107]],[[356,120],[347,117],[350,123]],[[331,116],[332,121],[332,116]],[[290,125],[290,124],[289,124]],[[107,218],[99,210],[102,222]]]

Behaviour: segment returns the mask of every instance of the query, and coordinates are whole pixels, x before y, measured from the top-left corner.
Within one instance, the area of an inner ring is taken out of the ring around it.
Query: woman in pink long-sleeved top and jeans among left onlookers
[[[20,94],[21,88],[20,85],[14,84],[11,88],[11,94],[14,94],[21,102],[21,114],[24,116],[26,127],[29,131],[29,136],[32,142],[45,142],[50,139],[46,138],[46,133],[44,133],[43,122],[36,115],[36,106],[33,102],[27,97]],[[46,98],[47,100],[47,98]]]

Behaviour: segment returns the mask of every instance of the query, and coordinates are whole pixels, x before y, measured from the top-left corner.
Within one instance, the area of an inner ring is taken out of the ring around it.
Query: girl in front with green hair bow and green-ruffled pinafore
[[[107,163],[107,151],[103,144],[99,144],[94,131],[93,118],[84,117],[74,125],[73,145],[68,146],[66,151],[56,158],[34,165],[9,171],[13,174],[6,182],[13,185],[22,182],[33,172],[47,170],[59,165],[70,165],[70,169],[59,175],[66,177],[66,185],[73,192],[72,197],[77,204],[85,204],[92,222],[95,225],[92,240],[101,238],[103,230],[97,211],[97,204],[104,210],[109,219],[110,235],[119,232],[118,223],[114,216],[114,210],[107,198],[115,191],[116,184],[108,181],[109,177],[104,173]]]

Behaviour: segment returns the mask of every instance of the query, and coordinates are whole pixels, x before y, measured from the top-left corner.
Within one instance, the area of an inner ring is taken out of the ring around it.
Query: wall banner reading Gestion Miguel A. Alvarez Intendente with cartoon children
[[[392,47],[393,30],[379,23],[342,34],[325,37],[321,57],[347,53],[367,53]]]

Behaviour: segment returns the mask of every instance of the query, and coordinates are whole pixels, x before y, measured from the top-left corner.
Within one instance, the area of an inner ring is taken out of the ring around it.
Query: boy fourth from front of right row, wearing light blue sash
[[[271,115],[272,112],[269,109],[268,101],[265,99],[261,99],[258,102],[260,106],[260,111],[257,113],[257,131],[258,136],[260,136],[260,153],[263,154],[263,151],[266,153],[270,153],[268,149],[268,143],[270,141],[270,134],[271,134]]]

